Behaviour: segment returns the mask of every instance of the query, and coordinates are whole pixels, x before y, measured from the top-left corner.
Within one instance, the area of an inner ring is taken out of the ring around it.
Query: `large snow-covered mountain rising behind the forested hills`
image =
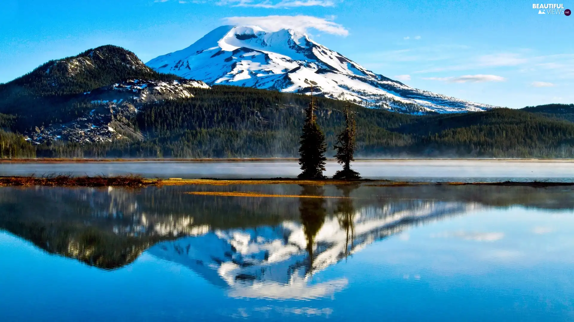
[[[204,81],[282,92],[310,93],[354,100],[402,112],[484,111],[472,103],[411,88],[363,68],[338,52],[292,29],[268,32],[257,26],[221,26],[188,48],[146,63],[162,73]]]

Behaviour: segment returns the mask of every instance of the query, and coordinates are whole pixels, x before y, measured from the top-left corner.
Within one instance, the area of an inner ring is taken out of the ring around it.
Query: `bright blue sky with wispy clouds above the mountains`
[[[574,0],[563,3],[574,10]],[[532,1],[3,0],[0,82],[114,44],[143,61],[224,24],[305,30],[375,73],[513,108],[574,103],[574,15]],[[542,9],[542,11],[546,11]],[[269,18],[269,16],[276,16]]]

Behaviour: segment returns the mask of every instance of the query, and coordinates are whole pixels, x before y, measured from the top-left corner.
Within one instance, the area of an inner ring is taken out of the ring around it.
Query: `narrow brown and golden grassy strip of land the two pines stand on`
[[[395,182],[391,180],[357,179],[338,180],[320,179],[308,180],[297,178],[270,178],[270,179],[150,179],[141,176],[0,176],[0,187],[147,187],[147,186],[229,186],[232,184],[300,184],[308,186],[324,185],[361,185],[369,187],[416,187],[416,186],[529,186],[529,187],[552,187],[574,186],[574,182]]]

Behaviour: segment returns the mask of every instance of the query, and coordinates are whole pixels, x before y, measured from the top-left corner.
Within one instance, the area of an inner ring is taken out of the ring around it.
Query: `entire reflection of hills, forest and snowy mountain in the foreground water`
[[[253,191],[343,198],[214,197]],[[315,280],[374,241],[485,207],[574,209],[571,188],[495,186],[185,186],[0,189],[0,229],[46,252],[117,269],[142,252],[183,265],[228,296],[317,299],[346,277]]]

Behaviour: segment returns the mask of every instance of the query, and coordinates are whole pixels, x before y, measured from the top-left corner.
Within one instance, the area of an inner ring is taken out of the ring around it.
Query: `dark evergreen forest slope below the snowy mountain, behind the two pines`
[[[215,86],[192,99],[149,104],[135,123],[143,141],[38,147],[39,156],[296,156],[307,96]],[[328,156],[343,126],[343,102],[318,100]],[[459,156],[570,158],[574,123],[539,113],[494,109],[414,116],[353,105],[359,157]]]

